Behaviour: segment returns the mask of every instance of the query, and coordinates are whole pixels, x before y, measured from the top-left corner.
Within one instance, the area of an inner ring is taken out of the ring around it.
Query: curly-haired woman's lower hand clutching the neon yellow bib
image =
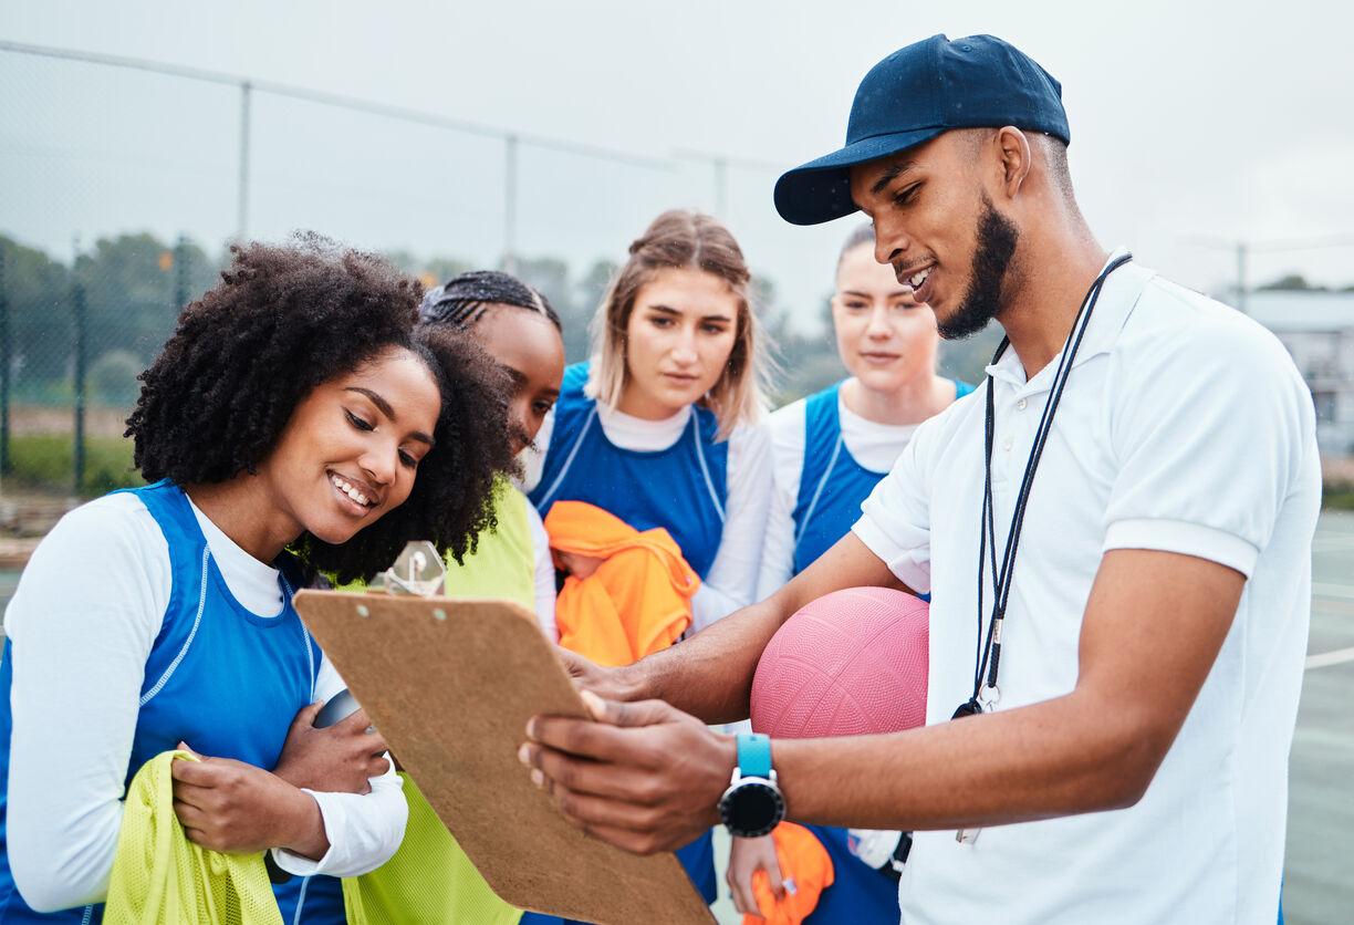
[[[233,855],[287,848],[310,859],[329,851],[320,804],[276,775],[233,758],[169,767],[173,810],[195,845]]]

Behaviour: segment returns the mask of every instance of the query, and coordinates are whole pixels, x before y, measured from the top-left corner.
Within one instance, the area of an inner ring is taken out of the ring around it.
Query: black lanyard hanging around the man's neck
[[[1076,359],[1076,351],[1080,348],[1082,337],[1090,325],[1091,313],[1095,310],[1095,302],[1099,299],[1105,278],[1132,259],[1133,255],[1125,253],[1116,257],[1101,271],[1101,275],[1095,278],[1095,282],[1086,291],[1082,307],[1076,311],[1075,321],[1072,321],[1067,343],[1063,344],[1063,356],[1057,362],[1057,370],[1053,372],[1053,383],[1049,387],[1048,401],[1044,404],[1044,414],[1039,418],[1039,428],[1034,431],[1034,446],[1030,447],[1029,462],[1025,463],[1025,477],[1021,479],[1020,494],[1016,497],[1016,512],[1011,515],[1011,528],[1006,535],[1006,551],[1002,554],[1001,572],[997,569],[997,530],[992,523],[992,436],[997,429],[992,413],[994,381],[992,375],[987,374],[987,420],[983,433],[987,455],[983,460],[983,513],[979,524],[980,539],[978,542],[978,651],[974,654],[974,693],[955,711],[955,719],[983,712],[984,700],[995,703],[1001,696],[1001,691],[997,687],[997,669],[1002,658],[1002,620],[1006,619],[1006,601],[1011,593],[1011,572],[1016,567],[1016,547],[1020,544],[1020,531],[1025,523],[1025,505],[1029,501],[1030,485],[1034,482],[1034,470],[1039,469],[1039,459],[1044,454],[1044,444],[1048,443],[1048,435],[1053,428],[1053,414],[1057,412],[1057,402],[1062,400],[1063,389],[1072,374],[1072,360]],[[997,352],[992,355],[992,366],[1002,358],[1007,347],[1010,347],[1010,339],[1003,337]],[[992,614],[987,623],[987,639],[984,642],[983,586],[986,580],[983,569],[987,565],[988,546],[992,548]],[[983,679],[984,673],[987,676],[986,683]],[[990,692],[986,697],[980,696],[984,691]]]

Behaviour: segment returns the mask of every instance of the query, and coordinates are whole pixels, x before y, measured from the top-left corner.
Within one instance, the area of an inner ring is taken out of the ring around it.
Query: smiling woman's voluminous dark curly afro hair
[[[403,348],[441,390],[436,446],[409,500],[343,544],[302,534],[292,550],[340,582],[370,578],[412,539],[459,561],[494,524],[497,474],[513,470],[504,371],[464,335],[416,332],[421,287],[380,257],[315,234],[232,252],[141,374],[126,436],[142,475],[188,486],[253,474],[315,386]]]

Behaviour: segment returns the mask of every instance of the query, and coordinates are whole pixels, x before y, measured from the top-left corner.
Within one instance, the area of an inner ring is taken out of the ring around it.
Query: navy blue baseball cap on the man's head
[[[846,146],[776,181],[776,211],[818,225],[856,211],[850,168],[951,129],[1016,126],[1071,141],[1063,87],[1020,49],[992,35],[932,35],[876,64],[860,81]]]

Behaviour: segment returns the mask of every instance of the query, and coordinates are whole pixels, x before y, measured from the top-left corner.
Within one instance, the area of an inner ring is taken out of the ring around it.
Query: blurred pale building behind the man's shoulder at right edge
[[[1273,330],[1312,390],[1324,454],[1354,454],[1354,291],[1258,291],[1246,311]]]

